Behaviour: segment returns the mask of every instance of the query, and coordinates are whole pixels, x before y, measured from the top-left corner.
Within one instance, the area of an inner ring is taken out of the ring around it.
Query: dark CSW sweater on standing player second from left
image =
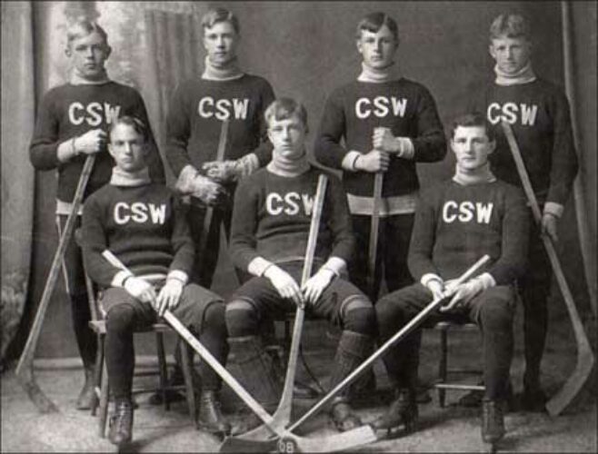
[[[274,92],[262,77],[214,81],[195,78],[176,87],[166,117],[166,158],[178,176],[187,164],[201,171],[216,159],[223,120],[229,120],[224,159],[255,153],[264,166],[272,158],[264,110]]]

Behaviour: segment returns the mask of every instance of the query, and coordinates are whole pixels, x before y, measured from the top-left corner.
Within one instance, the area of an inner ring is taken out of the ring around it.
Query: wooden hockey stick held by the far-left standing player
[[[45,311],[47,310],[50,299],[52,298],[52,293],[56,286],[60,266],[65,258],[66,247],[71,241],[71,237],[73,236],[73,232],[75,230],[75,221],[78,216],[79,207],[83,201],[85,187],[87,186],[89,175],[92,173],[92,169],[94,168],[94,163],[95,154],[87,155],[83,170],[81,171],[81,176],[79,177],[79,183],[77,183],[75,190],[72,210],[66,218],[65,230],[60,235],[60,241],[58,242],[58,247],[56,248],[54,259],[52,260],[52,266],[50,267],[50,272],[48,273],[48,277],[45,281],[44,292],[42,293],[42,298],[37,306],[37,313],[35,314],[34,323],[31,327],[31,331],[29,332],[29,337],[25,343],[23,353],[21,353],[21,358],[16,365],[15,375],[19,380],[19,383],[27,393],[27,396],[29,396],[29,399],[34,402],[35,407],[37,407],[37,409],[42,413],[55,412],[58,411],[58,408],[55,406],[55,403],[52,400],[47,398],[47,396],[44,394],[44,391],[40,389],[39,385],[35,381],[35,348],[37,347],[37,341],[39,341],[39,335],[42,332]]]

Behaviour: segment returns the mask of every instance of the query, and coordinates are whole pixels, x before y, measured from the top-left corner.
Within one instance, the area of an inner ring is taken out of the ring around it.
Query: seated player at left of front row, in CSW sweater
[[[213,292],[188,283],[194,244],[185,212],[174,192],[151,182],[146,140],[144,123],[128,116],[115,120],[108,144],[116,162],[112,178],[89,197],[83,214],[85,264],[103,289],[105,361],[115,398],[109,438],[116,445],[132,438],[133,333],[153,323],[156,311],[158,315],[174,311],[221,363],[228,353],[224,303]],[[107,262],[105,250],[128,271]],[[220,414],[217,398],[221,380],[204,361],[200,371],[198,427],[226,433],[230,426]]]

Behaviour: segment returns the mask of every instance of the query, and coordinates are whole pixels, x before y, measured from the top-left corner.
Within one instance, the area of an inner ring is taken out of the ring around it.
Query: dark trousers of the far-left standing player
[[[56,215],[56,229],[60,235],[65,229],[68,216],[65,214]],[[75,229],[81,226],[81,218],[77,217]],[[95,353],[97,351],[97,337],[94,331],[89,328],[91,310],[87,299],[85,287],[85,273],[83,269],[83,255],[81,248],[75,242],[75,234],[68,242],[65,251],[65,259],[62,263],[65,276],[65,288],[71,302],[71,317],[79,355],[85,369],[91,369],[95,364]]]

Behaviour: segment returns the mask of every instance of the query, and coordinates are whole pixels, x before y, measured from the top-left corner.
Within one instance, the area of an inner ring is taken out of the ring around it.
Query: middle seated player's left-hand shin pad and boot
[[[280,382],[274,377],[272,357],[257,336],[229,338],[231,354],[239,370],[239,382],[266,411],[272,413],[280,400]],[[252,411],[236,425],[231,434],[239,435],[262,424]]]

